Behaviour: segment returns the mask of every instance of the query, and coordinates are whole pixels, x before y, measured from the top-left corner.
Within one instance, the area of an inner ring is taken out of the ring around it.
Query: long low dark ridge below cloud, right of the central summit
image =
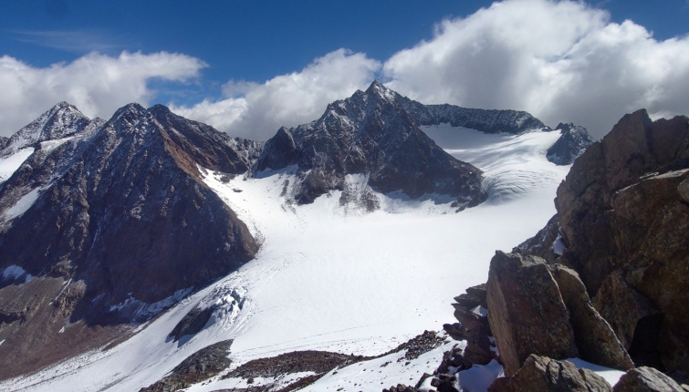
[[[539,119],[526,111],[460,108],[448,104],[423,105],[406,97],[400,98],[402,106],[419,125],[449,123],[453,127],[476,129],[485,133],[517,134],[530,129],[549,130]]]

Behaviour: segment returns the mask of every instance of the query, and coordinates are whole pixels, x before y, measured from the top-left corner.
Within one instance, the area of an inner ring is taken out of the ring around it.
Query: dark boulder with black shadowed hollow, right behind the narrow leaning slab
[[[662,366],[657,346],[663,312],[628,284],[620,271],[608,275],[593,304],[638,366]]]

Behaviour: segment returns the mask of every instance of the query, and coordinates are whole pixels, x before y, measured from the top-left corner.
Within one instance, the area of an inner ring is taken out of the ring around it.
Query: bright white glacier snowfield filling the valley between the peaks
[[[119,346],[5,381],[0,389],[138,390],[195,351],[231,338],[231,369],[295,350],[376,356],[424,330],[454,323],[453,297],[485,283],[495,251],[511,251],[555,213],[553,198],[569,166],[546,159],[559,132],[489,135],[445,125],[423,130],[457,159],[485,171],[488,201],[455,213],[443,196],[377,194],[381,209],[366,212],[355,204],[340,206],[341,192],[332,191],[297,206],[282,195],[295,183],[294,168],[230,181],[206,171],[205,183],[262,242],[256,259],[141,325]],[[348,178],[357,190],[365,181]],[[200,333],[172,342],[168,334],[197,304],[218,309]],[[380,392],[413,385],[457,343],[448,340],[408,366],[397,362],[402,352],[331,371],[307,390]],[[386,361],[391,366],[381,367]],[[493,364],[475,366],[466,382],[480,386],[481,375],[498,373]],[[245,387],[242,382],[214,377],[188,390]]]

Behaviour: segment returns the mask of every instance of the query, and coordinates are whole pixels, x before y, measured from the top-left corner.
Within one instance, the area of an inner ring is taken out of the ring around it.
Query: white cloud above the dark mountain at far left
[[[183,82],[206,67],[198,58],[166,52],[97,52],[71,63],[31,67],[14,57],[0,57],[0,135],[9,136],[59,101],[68,101],[89,117],[109,119],[130,103],[146,105],[153,78]]]

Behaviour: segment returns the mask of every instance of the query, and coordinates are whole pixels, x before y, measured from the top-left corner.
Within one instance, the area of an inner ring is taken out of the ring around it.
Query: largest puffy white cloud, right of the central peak
[[[388,86],[423,103],[527,110],[595,137],[625,113],[689,113],[689,36],[658,41],[583,2],[507,0],[435,26],[383,67]]]

